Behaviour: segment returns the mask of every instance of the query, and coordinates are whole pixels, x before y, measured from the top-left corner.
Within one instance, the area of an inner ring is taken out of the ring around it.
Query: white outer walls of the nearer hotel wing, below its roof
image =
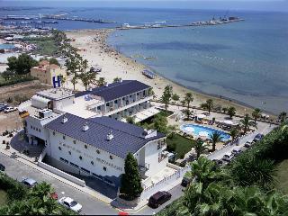
[[[67,137],[57,131],[47,130],[49,140],[46,154],[49,157],[74,167],[76,174],[92,175],[107,184],[116,186],[120,184],[120,176],[124,173],[125,158]],[[162,154],[165,148],[165,138],[162,138],[148,142],[134,154],[143,178],[155,175],[166,167],[168,158]]]

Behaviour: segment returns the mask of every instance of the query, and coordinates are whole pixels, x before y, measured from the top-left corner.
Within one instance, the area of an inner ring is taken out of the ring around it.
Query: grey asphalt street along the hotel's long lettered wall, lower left
[[[100,215],[117,215],[118,211],[113,209],[109,204],[97,200],[96,198],[78,191],[76,188],[64,184],[57,179],[45,175],[40,171],[31,168],[31,166],[24,165],[23,163],[6,157],[4,154],[0,153],[0,163],[6,166],[5,173],[14,179],[21,181],[25,177],[31,177],[37,182],[48,182],[52,184],[55,191],[58,193],[58,197],[69,196],[75,199],[77,202],[83,205],[83,210],[81,214],[100,214]],[[64,193],[64,194],[63,194]]]

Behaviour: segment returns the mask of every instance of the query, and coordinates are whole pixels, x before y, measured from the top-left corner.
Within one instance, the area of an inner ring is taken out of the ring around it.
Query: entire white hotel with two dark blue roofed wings
[[[148,88],[138,81],[122,81],[112,85],[112,90],[108,85],[85,94],[64,89],[39,92],[20,105],[30,113],[25,132],[31,144],[45,146],[49,163],[61,170],[119,186],[130,152],[143,180],[148,180],[167,166],[166,135],[114,118],[149,109]],[[113,97],[106,91],[113,92]]]

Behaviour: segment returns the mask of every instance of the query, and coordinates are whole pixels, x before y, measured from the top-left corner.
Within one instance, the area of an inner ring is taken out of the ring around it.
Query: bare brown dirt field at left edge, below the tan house
[[[29,100],[36,92],[50,87],[49,85],[41,85],[39,81],[3,86],[0,87],[0,102],[7,103],[10,97],[12,102],[9,102],[9,104],[17,106],[23,101]]]

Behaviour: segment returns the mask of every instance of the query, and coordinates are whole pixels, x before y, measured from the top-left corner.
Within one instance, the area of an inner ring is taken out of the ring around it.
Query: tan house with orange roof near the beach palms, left
[[[66,77],[67,73],[64,69],[55,64],[49,64],[48,60],[42,60],[39,62],[38,67],[32,67],[30,71],[31,76],[37,77],[41,83],[53,84],[53,77],[58,76]]]

